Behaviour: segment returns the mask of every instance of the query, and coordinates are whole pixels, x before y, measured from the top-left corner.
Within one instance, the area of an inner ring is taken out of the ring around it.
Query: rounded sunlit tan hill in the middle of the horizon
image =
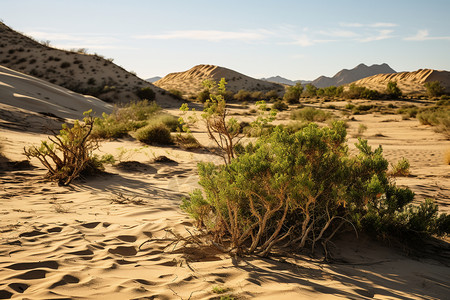
[[[198,65],[184,72],[170,73],[156,81],[155,85],[169,91],[181,91],[184,95],[196,95],[203,90],[202,83],[204,80],[209,79],[218,82],[221,78],[225,78],[228,82],[227,90],[235,93],[239,90],[284,91],[284,87],[280,84],[255,79],[214,65]]]

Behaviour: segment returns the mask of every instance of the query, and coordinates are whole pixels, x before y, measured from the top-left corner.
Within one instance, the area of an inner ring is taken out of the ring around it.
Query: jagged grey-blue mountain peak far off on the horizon
[[[311,82],[318,88],[329,86],[340,86],[353,81],[369,77],[376,74],[396,73],[388,64],[371,65],[359,64],[351,70],[343,69],[336,73],[333,77],[320,76]]]

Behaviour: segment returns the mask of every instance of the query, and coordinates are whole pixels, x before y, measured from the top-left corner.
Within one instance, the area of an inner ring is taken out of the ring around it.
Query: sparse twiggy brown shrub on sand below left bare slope
[[[83,121],[76,120],[72,127],[63,124],[59,134],[49,137],[51,143],[42,141],[40,147],[24,148],[24,154],[28,159],[37,158],[48,169],[47,177],[61,185],[70,184],[88,167],[98,169],[102,161],[92,153],[98,142],[91,136],[94,118],[90,114],[85,112]]]

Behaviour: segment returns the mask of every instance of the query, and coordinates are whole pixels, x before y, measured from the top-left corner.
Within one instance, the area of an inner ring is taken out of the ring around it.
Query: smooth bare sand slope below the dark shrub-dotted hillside
[[[59,123],[82,119],[92,109],[110,113],[112,106],[92,96],[0,66],[0,122],[11,128],[43,130]],[[35,124],[35,125],[32,125]]]

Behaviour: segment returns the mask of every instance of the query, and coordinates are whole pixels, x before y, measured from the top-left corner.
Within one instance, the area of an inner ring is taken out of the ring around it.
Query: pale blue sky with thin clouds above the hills
[[[148,78],[214,64],[260,78],[359,63],[450,70],[450,1],[2,0],[0,19]]]

